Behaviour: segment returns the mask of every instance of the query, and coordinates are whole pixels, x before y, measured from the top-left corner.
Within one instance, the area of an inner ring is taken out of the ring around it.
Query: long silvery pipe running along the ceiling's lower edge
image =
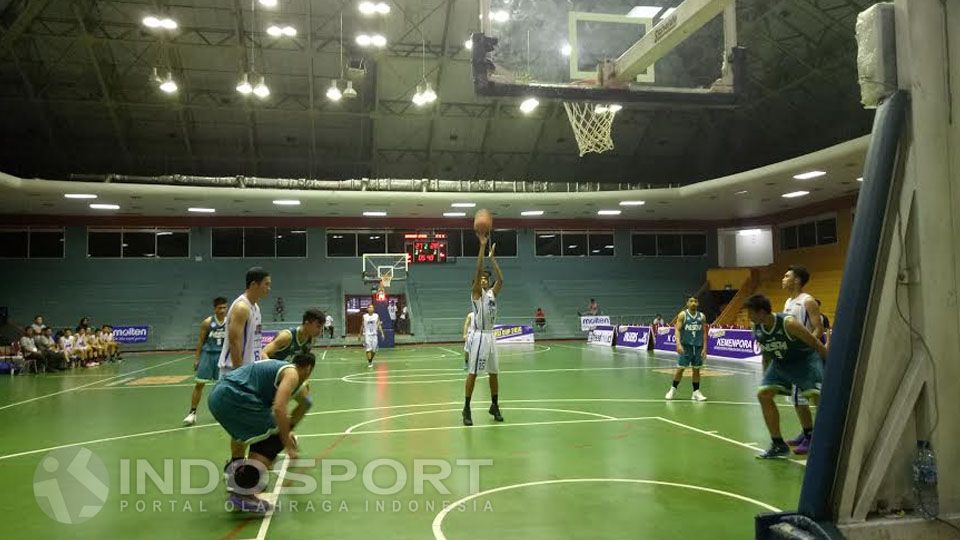
[[[127,174],[72,174],[76,182],[108,184],[150,184],[169,186],[223,187],[240,189],[297,189],[307,191],[415,191],[435,193],[548,193],[597,192],[639,189],[639,184],[610,184],[604,189],[599,182],[543,182],[496,180],[430,180],[400,178],[360,178],[350,180],[312,180],[307,178],[260,178],[256,176],[195,176],[170,174],[138,176]],[[647,186],[650,187],[650,186]]]

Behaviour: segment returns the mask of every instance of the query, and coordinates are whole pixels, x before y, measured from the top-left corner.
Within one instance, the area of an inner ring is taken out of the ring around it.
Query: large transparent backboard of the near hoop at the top
[[[487,96],[735,104],[735,0],[481,0],[471,38]]]

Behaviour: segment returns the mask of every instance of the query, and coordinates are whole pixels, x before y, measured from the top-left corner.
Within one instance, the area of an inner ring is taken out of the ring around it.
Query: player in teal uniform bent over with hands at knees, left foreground
[[[246,364],[221,378],[210,392],[210,413],[244,448],[241,455],[231,456],[226,467],[234,508],[261,514],[270,510],[270,504],[255,493],[266,487],[265,473],[277,454],[285,450],[288,458],[297,459],[293,429],[310,408],[306,381],[316,362],[312,354],[298,352],[291,362]],[[291,400],[296,400],[297,406],[288,413]],[[243,455],[248,445],[249,456]]]

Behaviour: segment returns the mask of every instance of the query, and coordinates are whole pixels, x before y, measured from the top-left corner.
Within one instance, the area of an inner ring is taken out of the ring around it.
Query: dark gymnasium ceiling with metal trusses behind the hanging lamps
[[[511,0],[517,1],[517,0]],[[501,2],[503,3],[503,2]],[[467,36],[476,0],[396,0],[380,23],[387,47],[354,43],[357,0],[0,0],[0,170],[291,178],[533,179],[689,184],[799,156],[869,132],[859,104],[856,15],[866,0],[738,0],[747,49],[744,104],[723,110],[626,107],[618,147],[578,158],[557,105],[519,114],[474,95]],[[644,4],[666,2],[645,0]],[[324,97],[345,59],[362,59],[359,96]],[[166,11],[161,38],[141,20]],[[292,24],[296,38],[264,29]],[[440,98],[411,103],[421,72]],[[251,50],[268,100],[235,90]],[[167,68],[180,86],[151,81]]]

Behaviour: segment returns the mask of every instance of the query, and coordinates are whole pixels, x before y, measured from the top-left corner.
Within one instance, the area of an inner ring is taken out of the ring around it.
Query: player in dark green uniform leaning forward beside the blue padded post
[[[747,299],[744,308],[753,322],[753,335],[769,367],[763,375],[757,399],[770,431],[770,448],[758,457],[780,458],[790,447],[780,434],[780,412],[774,403],[777,394],[789,396],[793,386],[814,405],[820,399],[823,363],[827,348],[806,327],[790,315],[773,313],[770,300],[762,294]]]

